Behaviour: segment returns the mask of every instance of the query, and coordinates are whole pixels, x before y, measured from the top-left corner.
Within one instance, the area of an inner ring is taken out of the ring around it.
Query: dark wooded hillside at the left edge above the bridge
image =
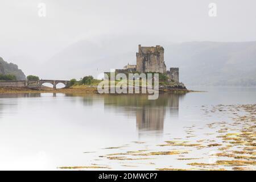
[[[13,63],[7,63],[0,57],[0,74],[3,75],[15,75],[17,80],[25,80],[26,76],[21,69],[18,68],[18,65]]]

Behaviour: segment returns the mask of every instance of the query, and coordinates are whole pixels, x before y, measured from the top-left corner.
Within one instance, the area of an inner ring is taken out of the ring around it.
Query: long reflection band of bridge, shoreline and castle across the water
[[[161,93],[157,100],[148,100],[146,94],[88,94],[88,93],[20,93],[20,94],[0,94],[0,98],[27,98],[27,97],[73,97],[68,102],[76,104],[77,101],[84,106],[104,105],[104,110],[115,115],[122,115],[128,119],[136,121],[139,134],[163,133],[164,119],[166,114],[175,118],[179,115],[179,100],[184,94]],[[0,110],[3,105],[18,105],[18,100],[2,100]],[[122,121],[120,121],[122,122]]]

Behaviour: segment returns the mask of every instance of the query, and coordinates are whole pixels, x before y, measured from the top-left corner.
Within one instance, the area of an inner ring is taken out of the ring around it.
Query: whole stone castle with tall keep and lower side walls
[[[166,64],[164,63],[164,48],[162,46],[142,47],[139,45],[139,50],[136,53],[136,60],[136,65],[127,64],[123,69],[115,69],[115,72],[164,73],[171,80],[179,82],[179,68],[170,68],[170,71],[166,70]]]

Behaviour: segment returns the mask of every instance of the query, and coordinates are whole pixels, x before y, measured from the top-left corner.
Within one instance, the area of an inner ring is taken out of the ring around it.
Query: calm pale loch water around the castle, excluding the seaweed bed
[[[232,120],[229,114],[210,112],[210,108],[255,104],[256,89],[201,90],[209,91],[165,93],[158,100],[147,100],[145,95],[0,94],[0,169],[188,168],[188,161],[176,160],[184,156],[209,162],[208,153],[216,152],[217,148],[167,149],[159,148],[159,144],[175,139],[193,143],[214,138],[207,124]],[[129,151],[149,154],[170,150],[184,152],[134,155],[141,158],[136,160],[127,155],[127,160],[123,160],[124,156],[108,157]]]

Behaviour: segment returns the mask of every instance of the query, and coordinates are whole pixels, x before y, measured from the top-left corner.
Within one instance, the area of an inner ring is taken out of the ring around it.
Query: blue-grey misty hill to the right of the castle
[[[167,46],[166,62],[189,85],[256,86],[256,42],[190,42]]]

